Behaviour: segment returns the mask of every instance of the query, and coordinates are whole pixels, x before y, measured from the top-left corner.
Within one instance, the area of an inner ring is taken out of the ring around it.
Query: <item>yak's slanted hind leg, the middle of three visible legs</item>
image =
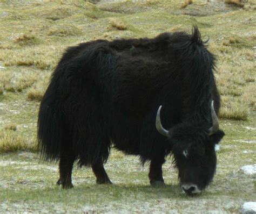
[[[96,176],[96,183],[98,184],[111,184],[109,176],[103,166],[103,161],[97,161],[96,163],[92,164],[92,171]]]

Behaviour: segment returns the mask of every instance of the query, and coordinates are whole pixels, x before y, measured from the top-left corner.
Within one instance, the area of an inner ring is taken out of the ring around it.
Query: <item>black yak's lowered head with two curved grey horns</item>
[[[179,171],[181,189],[187,194],[196,194],[205,189],[213,179],[216,168],[215,145],[224,136],[219,130],[217,115],[211,106],[213,125],[181,123],[170,130],[165,130],[160,121],[158,109],[156,127],[166,136],[171,144],[175,166]]]

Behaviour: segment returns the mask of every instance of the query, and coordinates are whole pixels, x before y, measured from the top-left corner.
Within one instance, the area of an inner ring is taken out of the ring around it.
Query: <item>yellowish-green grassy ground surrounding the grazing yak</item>
[[[0,212],[238,213],[242,203],[256,201],[255,175],[239,170],[256,163],[256,2],[185,2],[0,0]],[[181,195],[167,160],[167,186],[150,187],[148,166],[112,150],[106,170],[114,185],[98,186],[91,169],[75,168],[75,189],[56,187],[57,164],[43,163],[35,153],[36,121],[64,49],[94,39],[191,32],[193,24],[210,38],[208,48],[218,59],[226,136],[211,186],[197,197]]]

